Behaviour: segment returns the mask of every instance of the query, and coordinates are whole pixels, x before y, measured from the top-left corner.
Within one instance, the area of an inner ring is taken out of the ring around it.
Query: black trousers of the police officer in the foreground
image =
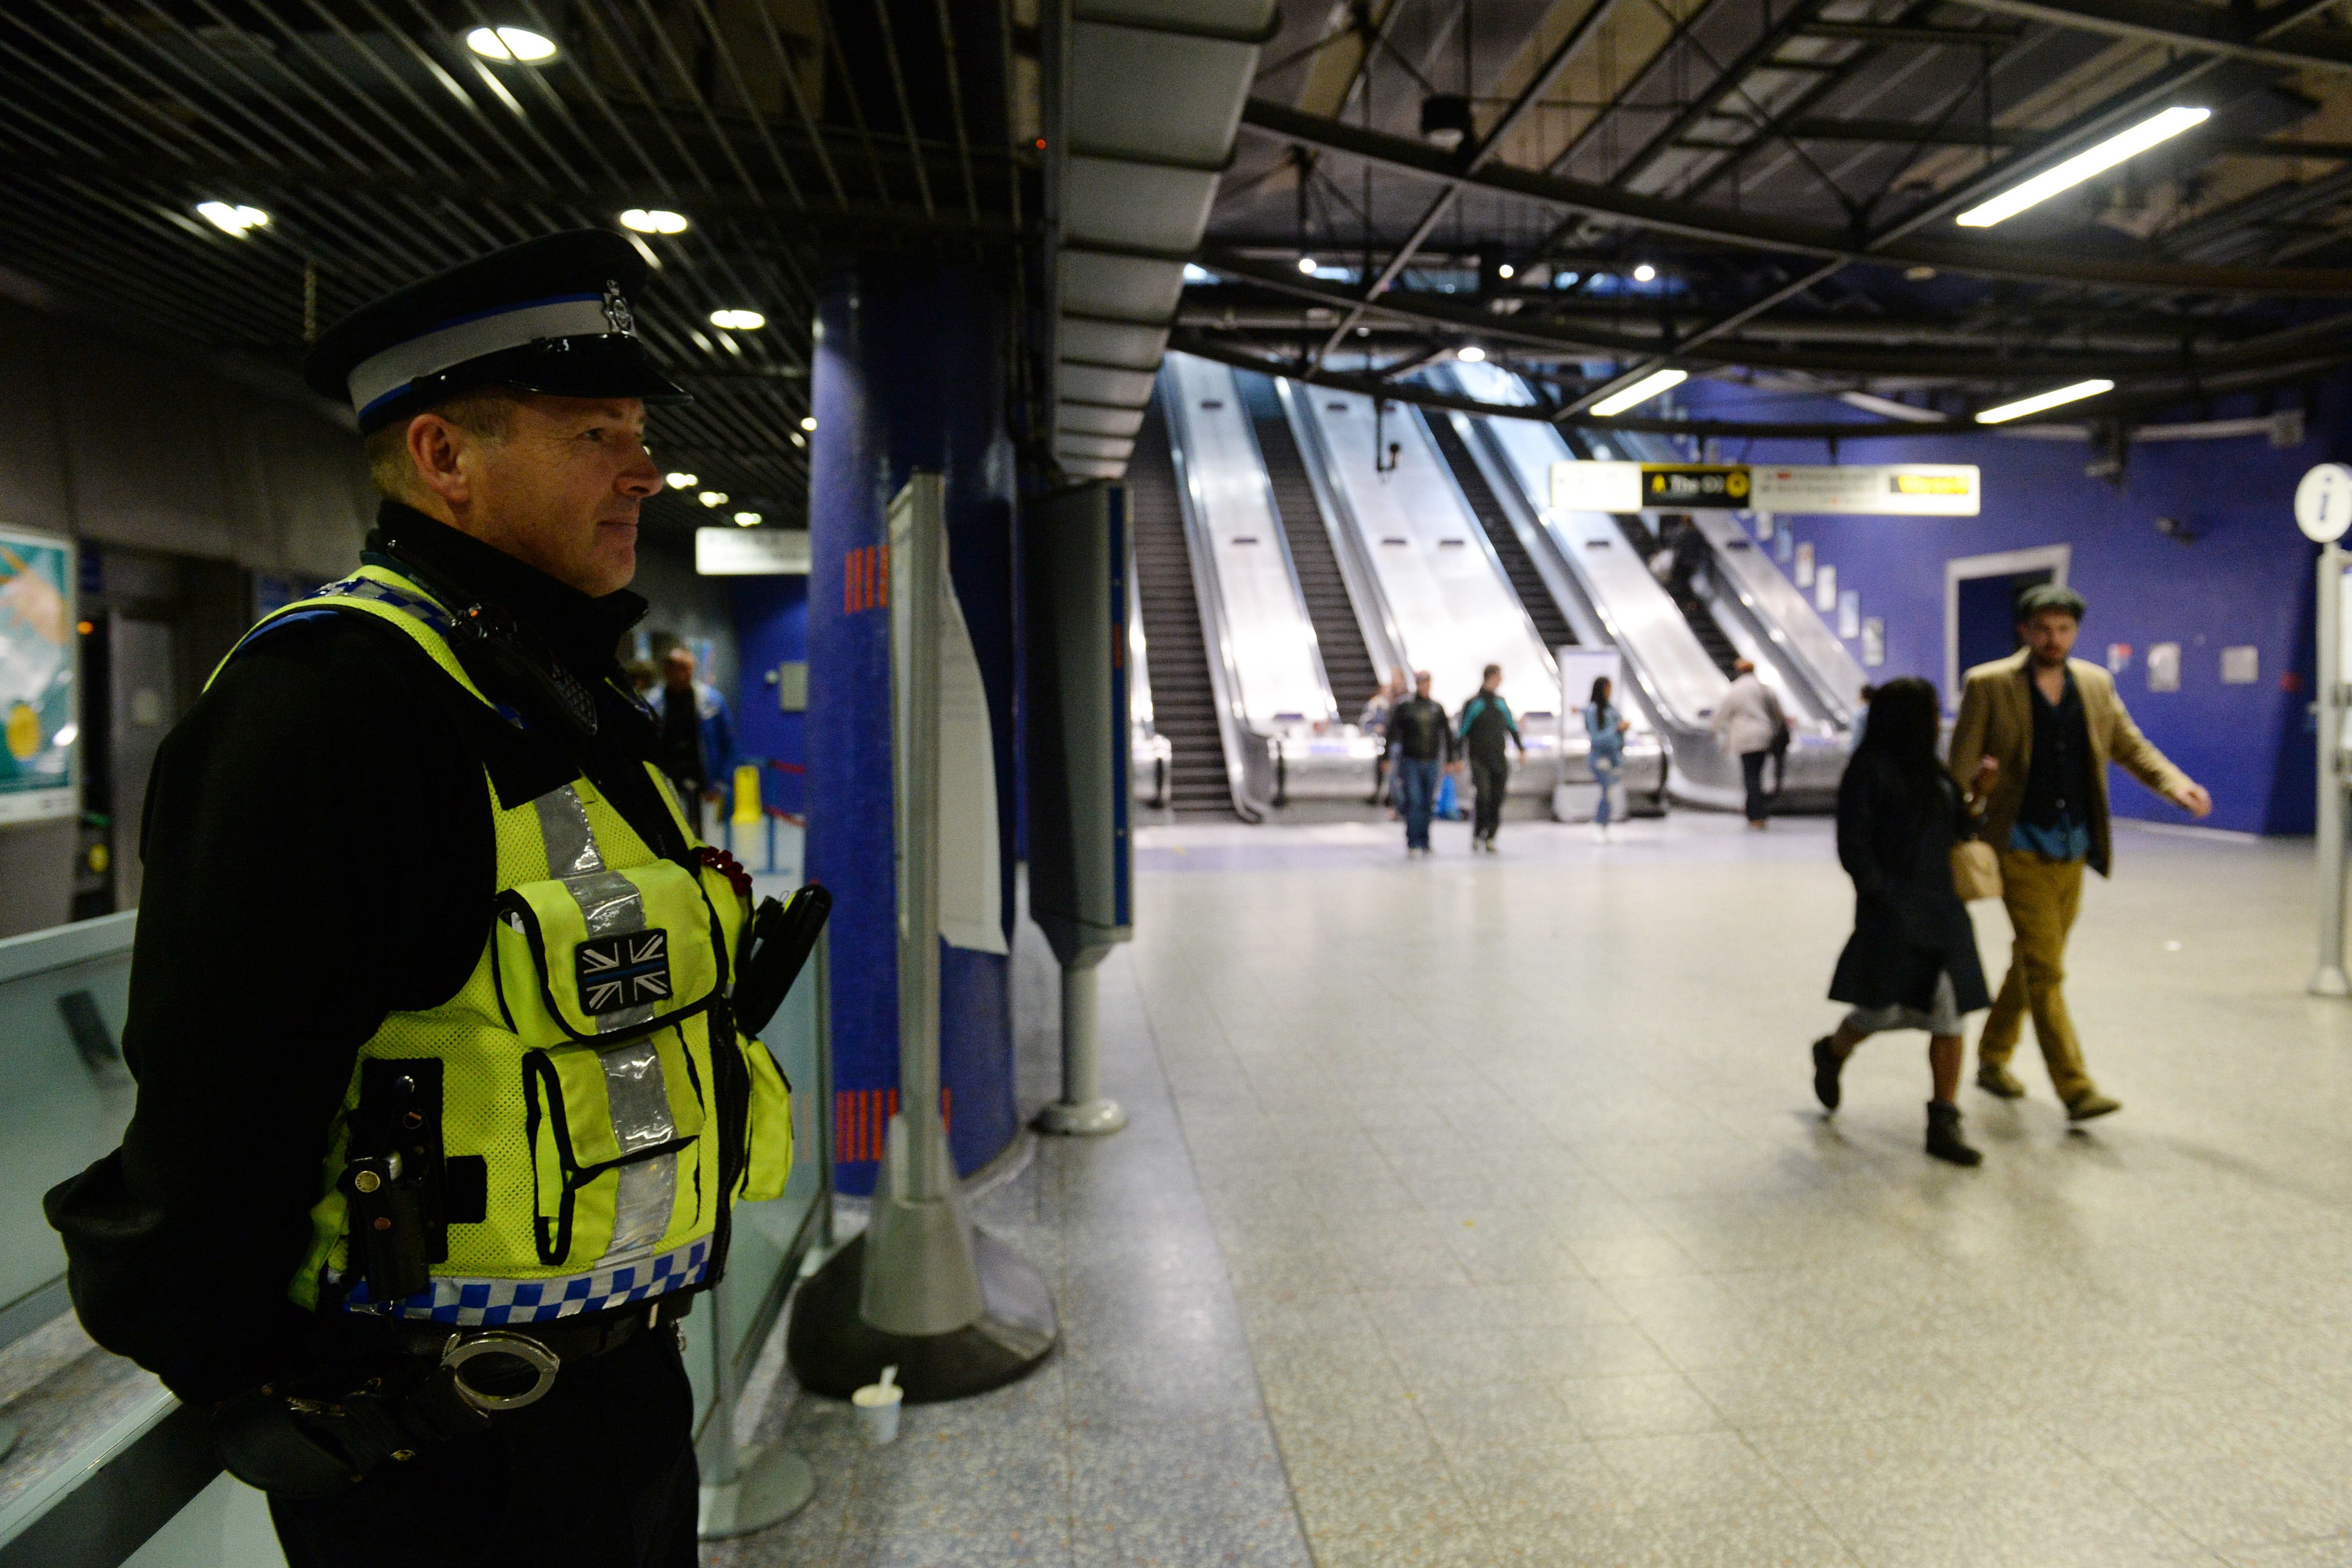
[[[334,1497],[270,1497],[289,1568],[694,1568],[694,1389],[668,1326],[492,1420]]]

